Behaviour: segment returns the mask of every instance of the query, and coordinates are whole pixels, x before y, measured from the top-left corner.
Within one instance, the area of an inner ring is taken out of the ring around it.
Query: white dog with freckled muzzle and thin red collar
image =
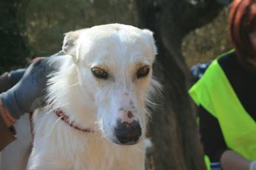
[[[152,32],[95,26],[67,33],[63,51],[49,105],[33,116],[27,169],[145,169],[146,105],[159,88]]]

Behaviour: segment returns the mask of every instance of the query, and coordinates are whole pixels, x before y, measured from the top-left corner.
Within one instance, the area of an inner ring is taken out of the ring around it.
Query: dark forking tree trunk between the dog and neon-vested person
[[[154,71],[163,84],[160,107],[152,114],[150,135],[156,169],[205,169],[196,113],[188,96],[189,69],[180,47],[182,38],[210,22],[221,10],[213,0],[136,0],[140,27],[154,31],[158,55]]]

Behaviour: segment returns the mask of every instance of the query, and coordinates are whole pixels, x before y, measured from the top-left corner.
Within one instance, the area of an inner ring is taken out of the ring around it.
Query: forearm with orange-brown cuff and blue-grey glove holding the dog
[[[42,106],[44,100],[38,98],[45,95],[48,75],[56,69],[56,65],[51,65],[48,58],[37,59],[28,66],[15,86],[0,94],[0,151],[15,139],[15,130],[12,127],[14,121],[24,112]]]

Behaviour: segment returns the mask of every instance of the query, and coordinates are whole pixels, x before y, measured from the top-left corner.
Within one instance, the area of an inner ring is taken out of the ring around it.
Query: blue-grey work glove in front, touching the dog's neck
[[[48,75],[57,70],[57,66],[48,62],[49,58],[39,58],[28,66],[22,79],[8,91],[1,93],[4,107],[18,119],[24,112],[42,106]],[[33,109],[31,106],[33,105]]]

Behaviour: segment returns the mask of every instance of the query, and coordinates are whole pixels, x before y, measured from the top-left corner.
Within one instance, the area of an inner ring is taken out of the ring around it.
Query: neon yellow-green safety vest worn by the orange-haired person
[[[228,148],[256,160],[256,122],[245,111],[217,59],[189,89],[189,95],[218,119]]]

